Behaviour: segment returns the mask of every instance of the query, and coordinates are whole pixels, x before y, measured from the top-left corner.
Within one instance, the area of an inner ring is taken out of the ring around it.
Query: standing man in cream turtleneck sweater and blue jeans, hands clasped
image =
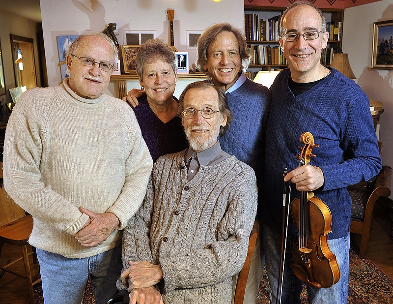
[[[44,302],[80,304],[88,276],[97,304],[116,292],[122,229],[146,192],[152,159],[134,111],[106,95],[118,51],[79,36],[70,78],[28,90],[9,119],[4,186],[33,216]]]

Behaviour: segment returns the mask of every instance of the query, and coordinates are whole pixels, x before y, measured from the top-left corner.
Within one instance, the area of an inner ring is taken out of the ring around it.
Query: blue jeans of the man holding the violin
[[[266,256],[266,271],[269,286],[272,290],[270,303],[276,303],[277,285],[280,274],[281,233],[263,225],[263,247]],[[292,272],[292,244],[293,239],[288,236],[285,267],[283,275],[283,288],[281,303],[301,304],[300,294],[303,282]],[[295,240],[296,241],[296,240]],[[349,234],[346,237],[329,240],[330,250],[336,254],[336,260],[340,268],[340,279],[330,288],[315,289],[307,286],[307,295],[310,304],[346,304],[348,299],[348,276],[349,276]]]

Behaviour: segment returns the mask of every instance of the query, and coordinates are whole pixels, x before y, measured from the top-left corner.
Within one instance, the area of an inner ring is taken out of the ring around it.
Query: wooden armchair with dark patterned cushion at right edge
[[[358,187],[348,188],[352,198],[351,209],[351,233],[362,235],[359,257],[364,259],[367,243],[370,236],[372,212],[375,202],[380,197],[388,197],[391,194],[392,168],[383,166],[377,175],[375,182],[357,184]]]

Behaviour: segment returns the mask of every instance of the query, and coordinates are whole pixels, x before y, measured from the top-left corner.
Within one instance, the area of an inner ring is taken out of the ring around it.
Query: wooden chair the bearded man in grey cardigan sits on
[[[246,291],[247,278],[250,272],[250,265],[251,265],[251,260],[253,259],[253,253],[254,253],[257,235],[258,232],[256,231],[256,227],[253,226],[253,229],[251,230],[251,234],[250,234],[250,241],[247,250],[246,261],[244,262],[243,268],[240,271],[239,276],[237,278],[236,291],[235,291],[233,304],[243,304],[244,293]],[[123,301],[123,298],[125,301]],[[112,299],[110,299],[107,302],[107,304],[121,304],[121,303],[127,304],[129,303],[127,298],[128,298],[128,292],[126,292],[125,295],[114,296]]]

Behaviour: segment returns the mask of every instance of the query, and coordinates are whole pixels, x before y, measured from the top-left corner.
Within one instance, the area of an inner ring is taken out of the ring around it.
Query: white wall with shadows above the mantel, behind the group
[[[119,44],[123,30],[156,30],[168,41],[167,9],[174,9],[174,45],[189,52],[189,65],[196,51],[186,48],[186,30],[205,30],[211,24],[230,22],[243,31],[243,0],[40,0],[49,86],[61,82],[56,36],[75,35],[85,30],[102,31],[116,23]]]

